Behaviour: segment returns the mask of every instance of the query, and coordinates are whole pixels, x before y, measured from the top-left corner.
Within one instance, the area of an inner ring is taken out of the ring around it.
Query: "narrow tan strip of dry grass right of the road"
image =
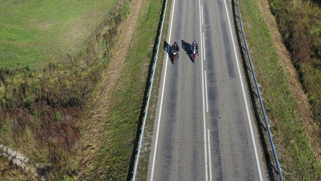
[[[268,0],[259,0],[258,6],[271,33],[272,42],[278,54],[280,64],[287,75],[286,79],[289,82],[290,89],[292,90],[293,97],[297,104],[296,109],[310,138],[310,145],[312,146],[316,159],[320,164],[321,148],[319,145],[321,145],[321,129],[313,117],[311,105],[309,104],[307,96],[304,94],[302,84],[299,81],[298,72],[291,62],[290,54],[284,46],[277,22],[271,14]]]

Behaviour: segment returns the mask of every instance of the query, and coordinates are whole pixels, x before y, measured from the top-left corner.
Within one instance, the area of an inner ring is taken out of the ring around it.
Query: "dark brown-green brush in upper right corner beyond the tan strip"
[[[321,2],[269,2],[313,114],[321,125]]]

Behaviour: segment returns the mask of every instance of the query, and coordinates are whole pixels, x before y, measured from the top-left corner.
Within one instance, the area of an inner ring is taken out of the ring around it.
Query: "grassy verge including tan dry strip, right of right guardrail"
[[[286,180],[320,180],[321,167],[317,161],[320,141],[313,136],[319,134],[318,124],[309,110],[304,110],[310,108],[308,103],[301,105],[304,94],[300,85],[295,86],[298,80],[291,70],[293,65],[286,56],[280,55],[284,51],[277,47],[282,41],[276,41],[269,30],[268,21],[273,19],[262,17],[258,2],[262,1],[241,1],[240,10],[283,177]]]

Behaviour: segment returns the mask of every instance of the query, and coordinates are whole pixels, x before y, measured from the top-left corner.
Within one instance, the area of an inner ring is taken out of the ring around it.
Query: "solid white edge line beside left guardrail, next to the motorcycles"
[[[174,8],[175,8],[175,0],[173,1],[173,12],[172,12],[172,20],[171,20],[171,28],[170,28],[170,36],[169,36],[169,47],[171,42],[171,34],[172,34],[172,25],[173,25],[173,17],[174,17]],[[161,115],[162,115],[162,107],[163,107],[163,98],[164,98],[164,89],[165,89],[165,80],[166,80],[166,71],[167,71],[167,63],[168,63],[169,56],[166,56],[166,65],[165,65],[165,74],[164,74],[164,81],[163,81],[163,88],[162,88],[162,98],[161,98],[161,106],[159,108],[159,116],[158,116],[158,123],[157,123],[157,132],[156,132],[156,141],[155,141],[155,148],[154,148],[154,155],[152,158],[152,166],[151,166],[151,176],[150,180],[152,181],[154,175],[154,168],[155,168],[155,159],[156,159],[156,149],[157,149],[157,142],[158,142],[158,133],[159,133],[159,125],[161,123]]]

